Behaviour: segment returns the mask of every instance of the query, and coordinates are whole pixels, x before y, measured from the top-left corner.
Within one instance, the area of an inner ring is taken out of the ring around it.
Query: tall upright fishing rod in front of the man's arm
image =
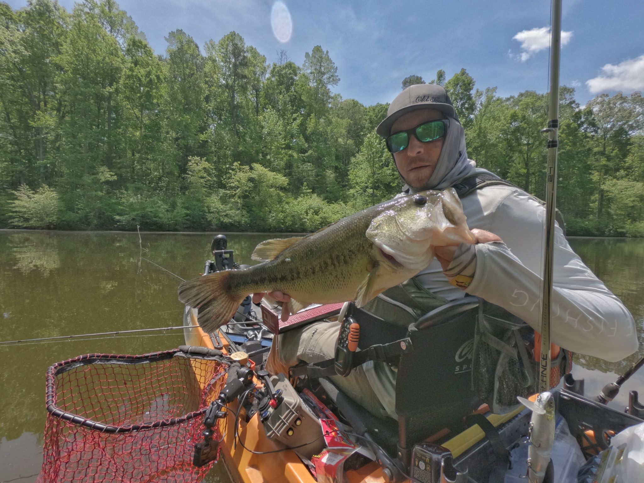
[[[554,213],[557,193],[557,146],[559,128],[559,62],[561,52],[562,0],[553,0],[551,24],[550,94],[548,127],[541,132],[548,137],[548,161],[545,183],[544,293],[541,307],[541,358],[539,392],[550,390],[550,324],[553,298]]]

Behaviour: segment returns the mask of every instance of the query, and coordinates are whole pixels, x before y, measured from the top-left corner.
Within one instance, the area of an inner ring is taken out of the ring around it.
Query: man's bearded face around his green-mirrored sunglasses
[[[418,109],[399,117],[392,126],[392,134],[412,129],[430,120],[442,119],[443,115],[433,109]],[[444,138],[431,142],[420,142],[411,136],[409,146],[393,154],[398,171],[405,182],[414,189],[422,188],[431,178],[439,161]]]

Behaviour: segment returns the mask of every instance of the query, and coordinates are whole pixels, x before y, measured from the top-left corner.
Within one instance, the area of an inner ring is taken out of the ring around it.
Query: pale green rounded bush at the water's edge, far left
[[[22,185],[10,200],[10,223],[17,228],[48,229],[58,221],[58,194],[47,185],[32,191]]]

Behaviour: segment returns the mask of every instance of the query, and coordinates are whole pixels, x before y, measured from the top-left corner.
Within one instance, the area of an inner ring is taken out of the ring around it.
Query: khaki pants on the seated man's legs
[[[316,322],[303,328],[289,330],[279,336],[279,357],[281,362],[292,367],[301,362],[307,364],[326,361],[334,357],[338,322]],[[331,381],[346,395],[380,418],[389,415],[384,410],[377,395],[369,383],[363,366],[358,366],[346,377],[335,375]]]

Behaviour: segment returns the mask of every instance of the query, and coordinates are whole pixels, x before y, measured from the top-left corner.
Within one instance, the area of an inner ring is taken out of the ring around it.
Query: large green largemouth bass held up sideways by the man
[[[363,307],[413,277],[434,256],[430,245],[476,243],[456,191],[422,191],[347,216],[312,234],[261,242],[242,270],[186,281],[179,299],[198,308],[205,332],[227,323],[251,293],[289,294],[294,314],[311,303],[355,301]]]

